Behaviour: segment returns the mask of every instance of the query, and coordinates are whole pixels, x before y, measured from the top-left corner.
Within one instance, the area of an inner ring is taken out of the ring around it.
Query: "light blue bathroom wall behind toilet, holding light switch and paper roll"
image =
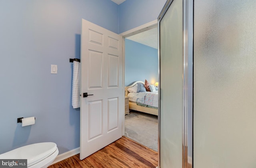
[[[69,58],[80,58],[82,18],[118,33],[110,0],[0,0],[0,154],[37,142],[55,142],[59,154],[80,146]],[[17,124],[30,116],[36,124]]]

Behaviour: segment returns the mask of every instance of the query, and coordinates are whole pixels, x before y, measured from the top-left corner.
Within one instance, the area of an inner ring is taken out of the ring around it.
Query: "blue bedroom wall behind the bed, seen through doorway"
[[[125,86],[137,80],[158,81],[158,50],[125,39]]]

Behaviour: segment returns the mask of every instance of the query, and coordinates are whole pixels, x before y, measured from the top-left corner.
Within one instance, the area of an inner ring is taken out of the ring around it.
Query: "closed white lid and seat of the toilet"
[[[56,149],[54,142],[30,144],[0,154],[0,159],[27,159],[27,165],[31,166],[50,156]]]

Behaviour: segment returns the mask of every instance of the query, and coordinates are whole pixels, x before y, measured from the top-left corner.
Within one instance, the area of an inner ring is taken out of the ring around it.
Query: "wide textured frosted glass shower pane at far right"
[[[194,0],[194,168],[256,168],[255,7]]]

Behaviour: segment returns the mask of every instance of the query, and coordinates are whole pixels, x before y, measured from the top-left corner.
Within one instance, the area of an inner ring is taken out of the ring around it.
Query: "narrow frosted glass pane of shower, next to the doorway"
[[[182,0],[160,21],[160,167],[182,168]]]

